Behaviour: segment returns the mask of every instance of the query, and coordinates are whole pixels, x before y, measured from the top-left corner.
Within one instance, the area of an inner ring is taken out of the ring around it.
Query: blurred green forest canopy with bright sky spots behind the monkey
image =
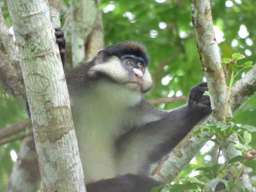
[[[68,15],[70,1],[63,0],[61,13]],[[5,22],[13,34],[7,4],[0,0]],[[145,45],[150,57],[149,70],[154,80],[154,88],[146,94],[147,99],[162,97],[188,97],[189,90],[206,81],[202,70],[197,38],[191,19],[190,1],[178,0],[118,0],[101,1],[104,45],[123,41],[138,41]],[[256,1],[255,0],[212,0],[212,19],[221,58],[231,58],[241,53],[243,64],[256,64]],[[65,16],[61,23],[63,26]],[[223,69],[225,64],[223,64]],[[250,70],[240,72],[234,82],[244,77]],[[239,71],[239,70],[238,70]],[[230,74],[229,74],[230,76]],[[230,78],[227,80],[229,84]],[[185,104],[187,100],[161,103],[157,108],[170,110]],[[256,127],[256,96],[240,109],[234,119],[243,125]],[[25,104],[21,98],[14,98],[0,85],[0,128],[8,127],[27,118]],[[237,123],[239,126],[239,124]],[[256,132],[252,132],[249,143],[256,149]],[[22,135],[22,133],[20,133]],[[22,140],[0,146],[0,191],[4,191],[14,162],[17,161]],[[212,166],[217,159],[214,142],[209,141],[191,163],[179,174],[180,179],[199,173],[197,167]],[[223,163],[222,155],[219,163]],[[256,187],[256,173],[247,169],[253,187]]]

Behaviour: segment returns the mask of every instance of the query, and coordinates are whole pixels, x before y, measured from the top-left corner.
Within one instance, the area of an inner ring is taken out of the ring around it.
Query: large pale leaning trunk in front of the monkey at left
[[[85,191],[69,96],[47,0],[8,0],[44,191]]]

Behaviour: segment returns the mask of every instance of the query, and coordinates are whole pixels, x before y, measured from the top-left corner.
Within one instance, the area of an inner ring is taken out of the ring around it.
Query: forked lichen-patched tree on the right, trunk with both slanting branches
[[[223,83],[225,79],[221,65],[221,57],[213,31],[210,0],[191,0],[191,8],[192,22],[195,26],[200,56],[207,78],[211,106],[214,112],[213,116],[209,115],[204,120],[201,120],[197,124],[197,126],[199,126],[200,124],[222,121],[224,116],[223,106],[225,106],[226,103],[227,90]],[[244,90],[251,91],[245,92]],[[229,116],[232,116],[231,110],[233,114],[237,112],[237,110],[252,97],[252,92],[256,91],[256,69],[252,68],[244,78],[237,81],[231,91],[231,95],[234,95],[234,93],[241,94],[236,94],[231,100],[231,108],[228,110]],[[195,131],[195,129],[192,129],[192,131],[174,148],[169,156],[158,164],[157,168],[151,173],[151,177],[157,180],[171,182],[204,146],[206,141],[202,140],[213,136],[212,133],[203,132],[191,140],[191,133],[193,131]],[[234,140],[236,139],[234,138]],[[234,147],[229,147],[229,151],[225,151],[227,159],[233,158],[234,154],[237,154],[237,151],[235,153],[234,150]],[[248,178],[248,174],[245,170],[240,179],[244,185],[250,189],[251,183]]]

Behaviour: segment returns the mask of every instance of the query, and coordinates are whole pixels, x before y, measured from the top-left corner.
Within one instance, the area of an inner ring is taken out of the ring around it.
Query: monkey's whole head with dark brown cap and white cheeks
[[[141,93],[153,86],[146,49],[136,42],[123,42],[99,50],[88,74],[93,77],[99,73]]]

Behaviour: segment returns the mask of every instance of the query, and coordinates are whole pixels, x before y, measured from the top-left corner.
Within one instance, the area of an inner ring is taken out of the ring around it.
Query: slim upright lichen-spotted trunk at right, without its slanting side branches
[[[230,106],[227,114],[225,114],[225,107],[223,107],[227,102],[227,89],[221,56],[213,30],[210,0],[191,0],[191,10],[192,23],[195,27],[199,53],[211,97],[212,114],[214,117],[212,123],[217,123],[217,121],[223,121],[225,115],[232,117],[232,113]],[[234,142],[238,141],[237,135],[232,135],[230,138],[232,138]],[[234,148],[234,144],[228,145],[227,150],[225,148],[222,150],[223,154],[225,154],[224,157],[226,161],[235,157],[234,154],[240,153],[240,151]],[[236,163],[236,165],[238,169],[242,166],[241,163]],[[244,183],[245,187],[252,189],[251,182],[248,181],[248,178],[249,176],[244,169],[240,180]]]

